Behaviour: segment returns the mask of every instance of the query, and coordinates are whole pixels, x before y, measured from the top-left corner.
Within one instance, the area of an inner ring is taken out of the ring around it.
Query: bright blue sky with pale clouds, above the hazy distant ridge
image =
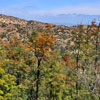
[[[69,13],[100,15],[99,5],[100,0],[0,0],[0,13],[25,19]]]

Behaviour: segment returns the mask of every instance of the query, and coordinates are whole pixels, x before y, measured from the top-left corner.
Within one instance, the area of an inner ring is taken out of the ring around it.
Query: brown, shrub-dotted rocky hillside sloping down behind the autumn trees
[[[32,31],[44,32],[50,26],[50,32],[55,33],[55,38],[58,40],[60,47],[65,48],[66,43],[70,38],[72,27],[64,25],[55,25],[52,23],[42,23],[38,21],[27,21],[24,19],[6,16],[0,14],[0,36],[9,39],[13,34],[17,34],[20,39],[27,40]]]

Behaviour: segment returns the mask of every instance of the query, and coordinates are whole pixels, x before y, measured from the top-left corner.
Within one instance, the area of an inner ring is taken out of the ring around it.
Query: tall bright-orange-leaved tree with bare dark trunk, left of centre
[[[48,28],[49,29],[49,28]],[[28,42],[28,48],[34,51],[35,57],[37,59],[37,75],[36,75],[36,100],[39,96],[39,84],[40,84],[40,63],[41,60],[45,59],[46,55],[54,49],[54,34],[40,33],[36,36],[32,42]]]

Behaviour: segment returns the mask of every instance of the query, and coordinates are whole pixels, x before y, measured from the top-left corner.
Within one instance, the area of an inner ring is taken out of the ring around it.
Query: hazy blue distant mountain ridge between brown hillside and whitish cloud
[[[84,14],[59,14],[37,17],[36,20],[42,22],[54,23],[57,25],[74,26],[78,24],[90,24],[91,21],[100,21],[100,15],[84,15]]]

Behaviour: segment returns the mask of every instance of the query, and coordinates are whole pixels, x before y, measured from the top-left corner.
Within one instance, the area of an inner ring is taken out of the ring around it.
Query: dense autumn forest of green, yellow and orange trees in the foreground
[[[55,35],[1,36],[0,100],[100,100],[100,25],[73,28],[65,50]]]

